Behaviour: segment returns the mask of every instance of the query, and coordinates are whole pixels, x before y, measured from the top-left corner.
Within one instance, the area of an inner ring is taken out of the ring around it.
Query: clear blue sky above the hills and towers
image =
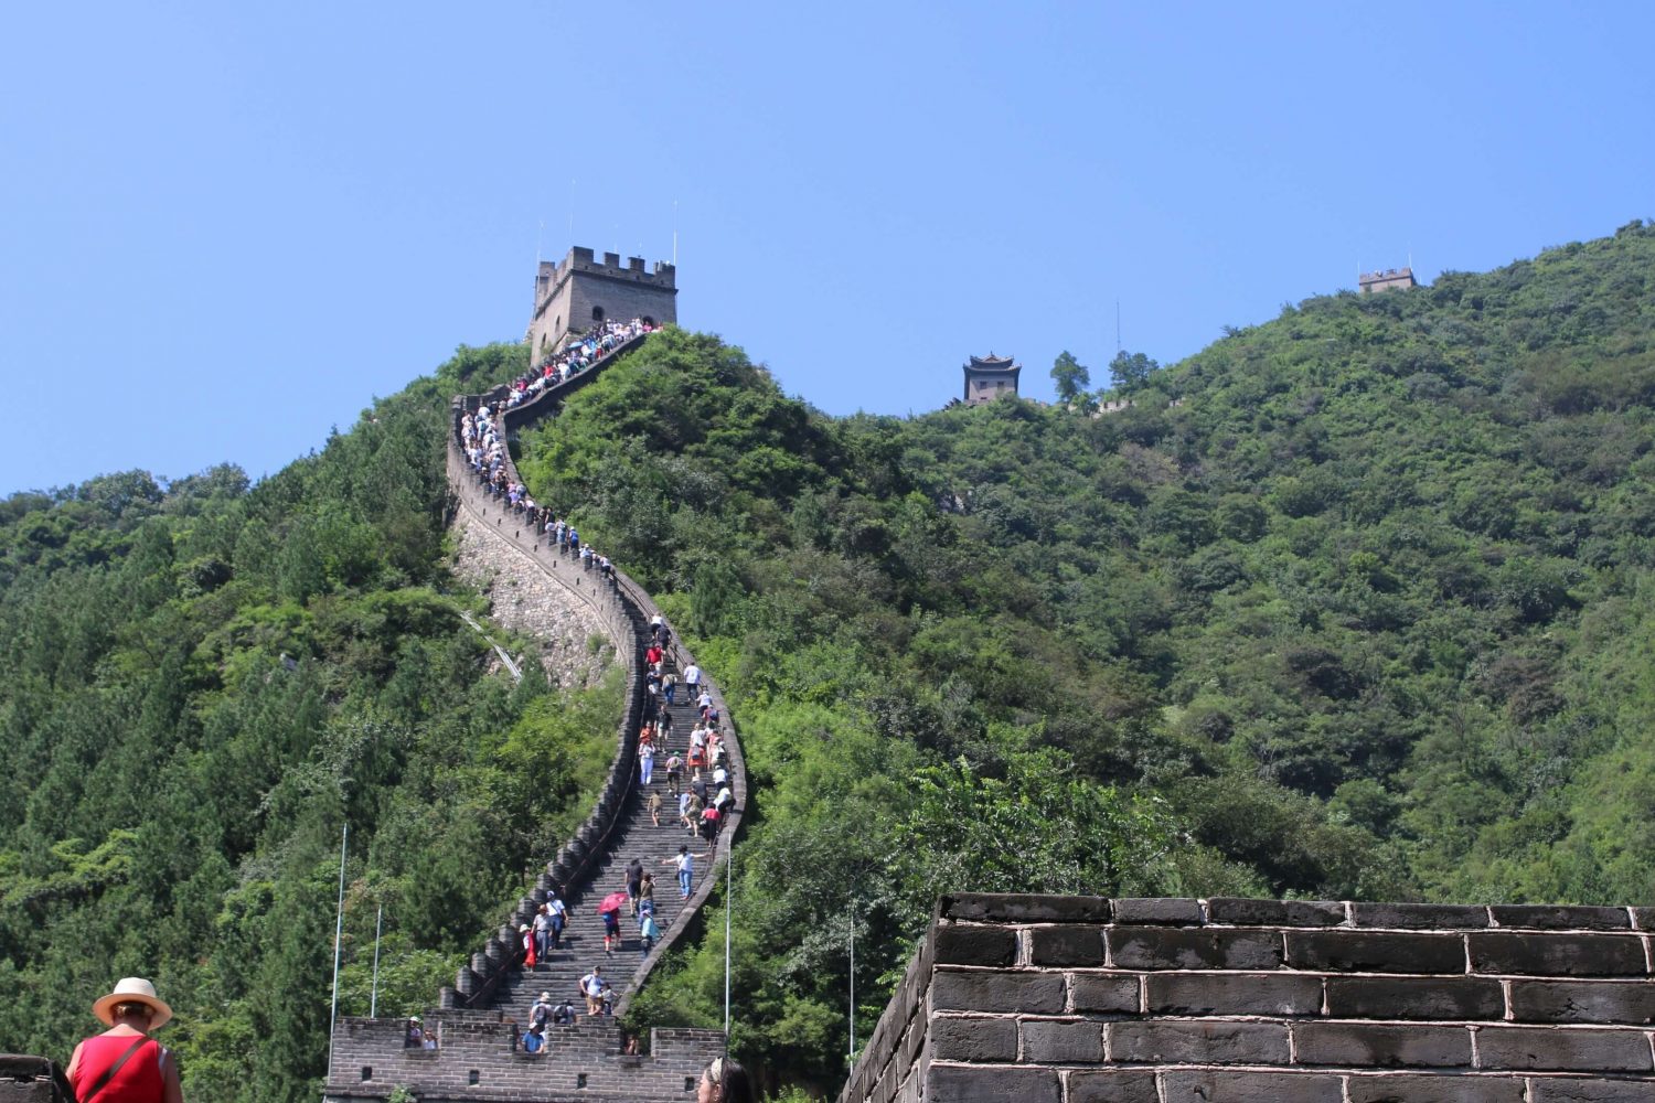
[[[1652,36],[1648,3],[12,5],[0,493],[275,471],[520,339],[536,250],[665,260],[675,222],[680,321],[828,412],[932,410],[990,349],[1038,399],[1063,349],[1101,384],[1117,299],[1170,362],[1357,265],[1655,217]]]

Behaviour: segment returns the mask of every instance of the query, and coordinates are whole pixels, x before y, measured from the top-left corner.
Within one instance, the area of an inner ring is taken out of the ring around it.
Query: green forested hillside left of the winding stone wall
[[[0,1050],[66,1062],[116,977],[177,1009],[185,1096],[316,1098],[341,827],[343,1014],[452,984],[614,752],[616,688],[518,686],[442,572],[462,351],[248,488],[134,471],[0,504]]]

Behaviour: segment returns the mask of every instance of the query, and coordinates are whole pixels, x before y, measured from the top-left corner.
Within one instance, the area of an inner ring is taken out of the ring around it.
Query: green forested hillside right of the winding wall
[[[1652,291],[1633,223],[1284,308],[1104,417],[834,420],[685,334],[578,395],[521,468],[756,774],[740,1047],[829,1083],[852,921],[871,1022],[940,888],[1647,903]],[[644,1015],[718,1020],[720,969]]]

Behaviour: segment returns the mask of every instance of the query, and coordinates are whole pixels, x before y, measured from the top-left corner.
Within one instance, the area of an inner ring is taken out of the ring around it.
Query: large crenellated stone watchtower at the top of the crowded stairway
[[[535,313],[528,322],[531,356],[536,361],[551,356],[566,337],[606,319],[677,322],[677,270],[665,261],[645,271],[642,256],[629,256],[622,266],[619,253],[604,253],[597,261],[591,250],[574,246],[561,263],[543,260],[535,273]]]

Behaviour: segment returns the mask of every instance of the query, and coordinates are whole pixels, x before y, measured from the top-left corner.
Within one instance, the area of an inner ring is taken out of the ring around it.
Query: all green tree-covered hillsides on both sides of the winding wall
[[[953,888],[1647,903],[1652,303],[1632,223],[1284,308],[1102,417],[829,418],[667,331],[525,433],[740,724],[736,1050],[837,1085],[847,939],[871,1025]],[[152,974],[192,1100],[298,1100],[341,825],[344,1010],[384,903],[399,1014],[584,810],[614,686],[513,686],[444,567],[445,397],[521,367],[462,351],[258,486],[0,506],[7,1047]],[[639,1024],[722,1022],[722,961]]]

